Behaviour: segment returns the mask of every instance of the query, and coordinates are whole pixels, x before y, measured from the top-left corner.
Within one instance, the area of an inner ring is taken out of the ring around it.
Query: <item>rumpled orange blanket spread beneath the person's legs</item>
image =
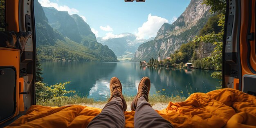
[[[156,110],[175,128],[256,128],[256,97],[234,89],[194,93],[184,102],[170,102]],[[101,109],[87,106],[34,105],[8,127],[81,128]],[[133,128],[134,111],[124,112],[126,128]]]

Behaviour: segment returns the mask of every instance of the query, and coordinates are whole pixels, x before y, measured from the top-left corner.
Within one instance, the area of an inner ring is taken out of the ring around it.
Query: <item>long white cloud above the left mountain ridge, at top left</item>
[[[38,0],[38,2],[43,6],[43,7],[54,7],[58,11],[67,11],[69,14],[77,14],[79,11],[74,8],[70,8],[66,5],[59,6],[57,3],[50,2],[49,0]]]

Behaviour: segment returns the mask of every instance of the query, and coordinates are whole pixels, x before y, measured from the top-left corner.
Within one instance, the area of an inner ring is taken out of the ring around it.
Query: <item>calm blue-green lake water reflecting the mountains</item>
[[[139,81],[148,76],[151,81],[150,94],[160,93],[184,96],[189,92],[215,90],[217,79],[211,78],[210,70],[183,70],[164,67],[141,67],[133,62],[41,62],[44,82],[49,85],[71,81],[67,90],[75,90],[83,96],[100,100],[110,95],[109,82],[117,76],[123,93],[137,94]]]

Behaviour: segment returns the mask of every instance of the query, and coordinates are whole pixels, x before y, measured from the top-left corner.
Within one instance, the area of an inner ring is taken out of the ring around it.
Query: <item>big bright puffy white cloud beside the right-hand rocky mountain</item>
[[[158,16],[151,16],[148,15],[148,20],[143,23],[141,27],[138,28],[138,31],[135,33],[137,39],[148,38],[148,37],[155,37],[157,31],[160,27],[165,23],[168,22],[165,18],[158,17]]]

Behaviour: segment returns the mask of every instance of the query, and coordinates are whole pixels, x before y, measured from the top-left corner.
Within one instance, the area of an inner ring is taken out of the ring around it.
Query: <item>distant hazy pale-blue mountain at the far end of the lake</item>
[[[104,40],[103,37],[98,37],[97,40],[103,45],[107,45],[117,56],[133,55],[139,45],[145,43],[146,39],[137,40],[137,36],[131,33],[119,34],[119,38],[111,38]],[[150,38],[153,40],[152,38]]]

